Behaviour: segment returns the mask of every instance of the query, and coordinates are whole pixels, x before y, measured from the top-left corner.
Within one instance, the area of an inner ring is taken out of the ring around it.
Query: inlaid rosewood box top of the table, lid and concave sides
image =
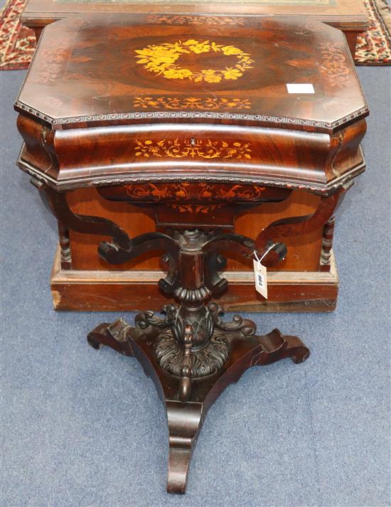
[[[368,107],[346,40],[310,18],[64,19],[45,28],[16,110],[22,165],[57,188],[191,173],[328,193],[363,170]]]

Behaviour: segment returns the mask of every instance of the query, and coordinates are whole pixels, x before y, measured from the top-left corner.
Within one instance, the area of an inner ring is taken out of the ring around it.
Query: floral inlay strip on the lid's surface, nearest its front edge
[[[134,97],[133,106],[143,109],[229,111],[250,109],[251,102],[248,99],[225,97]]]

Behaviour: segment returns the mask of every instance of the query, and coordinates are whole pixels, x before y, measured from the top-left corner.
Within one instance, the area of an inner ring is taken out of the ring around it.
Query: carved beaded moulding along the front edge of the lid
[[[325,132],[332,132],[333,129],[339,127],[346,122],[350,122],[355,118],[368,114],[368,107],[363,107],[348,116],[338,119],[336,122],[316,122],[307,119],[290,118],[290,117],[277,117],[267,116],[264,114],[248,114],[248,113],[233,113],[233,112],[210,112],[210,111],[146,111],[146,112],[123,112],[112,114],[87,114],[85,116],[73,116],[66,118],[52,118],[47,114],[33,109],[19,100],[16,101],[15,107],[26,111],[33,116],[45,120],[52,125],[65,125],[73,123],[85,122],[114,122],[126,119],[234,119],[237,121],[252,121],[259,122],[259,124],[281,124],[285,125],[300,125],[301,127],[314,127],[317,129],[324,129]]]

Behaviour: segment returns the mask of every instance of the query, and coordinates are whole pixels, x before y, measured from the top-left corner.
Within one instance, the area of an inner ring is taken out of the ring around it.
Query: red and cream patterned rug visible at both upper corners
[[[391,65],[390,6],[386,0],[364,0],[370,16],[370,29],[359,36],[357,65]],[[26,0],[9,0],[0,24],[1,70],[28,67],[35,50],[32,30],[21,26],[19,16]]]

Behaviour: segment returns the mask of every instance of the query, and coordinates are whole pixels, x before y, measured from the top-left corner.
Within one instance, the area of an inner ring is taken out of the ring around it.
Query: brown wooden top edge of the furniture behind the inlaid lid
[[[221,16],[311,16],[342,30],[354,56],[358,33],[368,28],[368,16],[361,0],[225,0],[209,2],[156,0],[28,0],[22,21],[33,28],[37,36],[48,23],[86,13],[178,14],[183,21],[197,16],[200,22],[213,14]]]

